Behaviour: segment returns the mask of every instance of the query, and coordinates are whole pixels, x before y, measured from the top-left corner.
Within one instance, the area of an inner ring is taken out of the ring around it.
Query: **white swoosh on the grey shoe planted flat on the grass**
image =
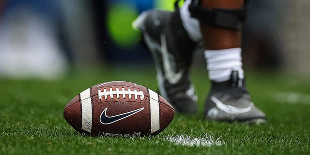
[[[223,104],[223,102],[221,102],[219,99],[217,99],[214,96],[211,96],[211,100],[217,105],[218,109],[221,109],[225,111],[226,113],[230,113],[230,114],[246,113],[252,109],[251,106],[249,106],[248,108],[236,108],[231,105],[225,105]]]

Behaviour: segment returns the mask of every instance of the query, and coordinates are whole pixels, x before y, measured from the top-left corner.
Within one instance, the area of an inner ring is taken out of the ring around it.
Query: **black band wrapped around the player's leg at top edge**
[[[192,0],[188,10],[190,15],[204,24],[218,28],[240,30],[247,14],[247,0],[242,9],[205,9],[201,6],[201,0]]]

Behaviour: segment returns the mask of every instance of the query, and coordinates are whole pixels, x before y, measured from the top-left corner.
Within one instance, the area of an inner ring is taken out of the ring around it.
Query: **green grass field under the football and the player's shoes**
[[[309,78],[246,70],[252,100],[268,119],[249,126],[204,120],[207,72],[196,69],[192,75],[199,114],[176,114],[158,136],[132,139],[83,136],[63,119],[63,108],[104,81],[130,81],[156,91],[153,67],[72,71],[55,81],[0,79],[0,155],[310,155]]]

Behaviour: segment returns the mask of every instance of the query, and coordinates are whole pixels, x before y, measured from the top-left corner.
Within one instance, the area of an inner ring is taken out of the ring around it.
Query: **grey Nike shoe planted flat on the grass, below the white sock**
[[[265,114],[256,108],[245,87],[244,79],[233,71],[231,79],[212,82],[205,104],[205,117],[223,122],[261,124],[266,122]]]

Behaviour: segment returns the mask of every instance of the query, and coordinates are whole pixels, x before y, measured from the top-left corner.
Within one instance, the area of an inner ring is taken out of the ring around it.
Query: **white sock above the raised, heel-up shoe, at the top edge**
[[[188,5],[191,0],[186,0],[183,6],[180,8],[180,16],[183,23],[183,26],[193,42],[199,42],[202,40],[202,32],[200,30],[200,24],[198,19],[190,16],[188,11]]]

